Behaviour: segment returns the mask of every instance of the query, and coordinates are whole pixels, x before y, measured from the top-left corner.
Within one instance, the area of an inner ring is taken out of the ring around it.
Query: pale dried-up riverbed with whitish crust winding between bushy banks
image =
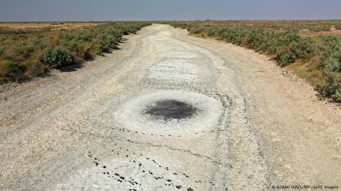
[[[1,86],[0,190],[341,186],[341,112],[309,85],[168,25],[125,38],[81,68]]]

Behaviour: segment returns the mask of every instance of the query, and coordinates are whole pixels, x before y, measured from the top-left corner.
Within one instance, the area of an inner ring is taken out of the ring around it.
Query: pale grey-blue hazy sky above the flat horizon
[[[341,19],[341,0],[0,0],[0,21]]]

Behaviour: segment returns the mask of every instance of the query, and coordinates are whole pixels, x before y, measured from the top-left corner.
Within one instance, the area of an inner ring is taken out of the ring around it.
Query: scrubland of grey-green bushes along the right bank
[[[303,37],[299,30],[340,29],[341,21],[186,21],[163,22],[192,34],[215,37],[274,57],[279,65],[305,63],[319,71],[317,90],[341,102],[341,38],[337,35]]]

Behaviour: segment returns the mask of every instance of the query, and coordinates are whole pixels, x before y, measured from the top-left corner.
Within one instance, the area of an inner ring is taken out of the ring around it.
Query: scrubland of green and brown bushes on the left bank
[[[122,35],[147,25],[150,23],[107,23],[50,33],[47,29],[0,28],[0,84],[81,63],[115,48]]]

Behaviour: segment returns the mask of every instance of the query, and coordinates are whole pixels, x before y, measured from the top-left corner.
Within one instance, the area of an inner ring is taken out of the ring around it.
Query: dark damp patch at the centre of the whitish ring
[[[148,106],[146,113],[162,117],[165,121],[170,119],[184,119],[196,114],[197,109],[186,102],[174,99],[157,101],[155,105]]]

